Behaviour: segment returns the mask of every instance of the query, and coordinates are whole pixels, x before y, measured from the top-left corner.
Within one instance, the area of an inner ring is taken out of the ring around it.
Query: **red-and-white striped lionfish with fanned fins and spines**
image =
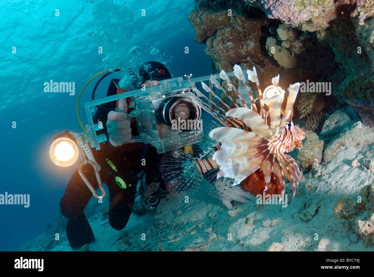
[[[218,99],[221,106],[216,105],[197,89],[197,96],[190,96],[197,105],[212,115],[215,121],[204,124],[203,143],[193,146],[194,156],[183,151],[178,155],[169,152],[163,154],[163,180],[173,192],[196,190],[204,177],[212,184],[217,182],[217,179],[220,180],[220,185],[225,186],[224,190],[220,191],[224,191],[226,196],[232,186],[240,184],[242,190],[252,195],[262,195],[265,192],[272,195],[280,194],[282,199],[285,193],[285,177],[292,184],[295,196],[301,175],[300,169],[286,152],[292,151],[295,147],[300,149],[305,138],[304,131],[292,122],[293,105],[300,83],[289,85],[289,94],[283,111],[280,94],[283,93],[284,96],[285,91],[278,86],[279,75],[272,78],[274,94],[264,98],[255,67],[253,71],[248,69],[247,74],[248,80],[257,85],[259,111],[255,104],[257,99],[253,98],[239,65],[234,65],[234,75],[243,82],[248,91],[250,108],[223,70],[220,72],[220,78],[232,88],[242,107],[237,105],[213,75],[210,78],[211,83],[223,91],[233,108],[203,82],[203,89]],[[213,188],[211,191],[214,192]]]

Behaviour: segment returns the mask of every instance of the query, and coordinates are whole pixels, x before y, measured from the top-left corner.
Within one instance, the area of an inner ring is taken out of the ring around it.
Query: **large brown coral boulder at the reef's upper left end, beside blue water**
[[[236,9],[235,9],[236,8]],[[189,20],[196,31],[195,40],[205,43],[205,52],[211,58],[215,71],[232,70],[232,65],[241,62],[263,63],[266,56],[260,46],[263,36],[260,26],[267,26],[264,14],[240,15],[237,7],[218,9],[214,3],[199,1],[194,6]]]

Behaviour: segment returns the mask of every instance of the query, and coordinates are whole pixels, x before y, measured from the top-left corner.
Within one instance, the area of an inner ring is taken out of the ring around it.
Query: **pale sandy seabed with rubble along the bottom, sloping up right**
[[[365,136],[372,136],[374,132],[371,132],[368,129]],[[326,174],[314,178],[304,173],[294,199],[290,184],[286,184],[289,196],[286,208],[281,205],[258,206],[253,197],[246,205],[235,203],[229,211],[220,200],[207,196],[204,184],[198,193],[192,195],[169,195],[155,212],[148,211],[144,216],[133,214],[122,231],[110,227],[107,215],[103,215],[107,209],[102,208],[89,219],[96,237],[89,249],[267,251],[273,243],[278,243],[272,248],[286,251],[373,251],[373,246],[365,247],[349,229],[347,221],[337,218],[333,211],[340,197],[357,199],[359,190],[373,183],[373,174],[362,166],[352,167],[352,161],[357,157],[363,164],[367,151],[374,153],[374,146],[343,147],[330,162],[322,164]],[[189,198],[188,203],[185,203],[185,196]],[[368,216],[369,212],[365,211],[358,218],[367,219]],[[310,221],[305,222],[301,217]],[[142,234],[145,234],[145,240],[142,240]],[[60,232],[59,241],[54,238],[54,234],[48,238],[46,233],[42,234],[22,250],[42,250],[51,240],[50,250],[71,250],[64,230]]]

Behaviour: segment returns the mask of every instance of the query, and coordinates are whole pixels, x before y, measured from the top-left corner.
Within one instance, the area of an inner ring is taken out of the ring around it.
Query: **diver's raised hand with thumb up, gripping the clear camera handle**
[[[113,146],[120,146],[131,139],[131,121],[127,116],[126,100],[120,99],[118,106],[122,109],[122,112],[110,111],[106,124],[109,142]]]

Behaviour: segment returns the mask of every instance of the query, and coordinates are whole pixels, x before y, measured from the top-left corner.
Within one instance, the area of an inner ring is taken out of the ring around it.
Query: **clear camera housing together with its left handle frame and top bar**
[[[102,122],[94,124],[92,113],[96,105],[132,97],[129,105],[133,109],[129,117],[135,117],[139,136],[127,143],[144,142],[156,147],[158,153],[179,149],[202,141],[201,109],[190,99],[195,93],[194,81],[182,77],[160,81],[159,85],[108,96],[85,103],[89,124],[86,125],[91,147],[100,149],[99,143],[105,135],[96,135],[103,128]],[[205,79],[205,78],[203,78]],[[119,108],[116,111],[120,111]]]

